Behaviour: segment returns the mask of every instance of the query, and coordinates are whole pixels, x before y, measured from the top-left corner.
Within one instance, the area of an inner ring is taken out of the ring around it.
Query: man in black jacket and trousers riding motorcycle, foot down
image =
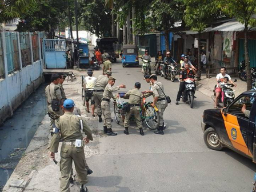
[[[195,69],[190,69],[189,68],[189,63],[185,63],[185,69],[183,69],[181,71],[181,73],[179,74],[179,79],[181,81],[181,83],[179,83],[179,91],[177,94],[177,99],[175,104],[179,105],[179,100],[181,99],[181,95],[183,93],[183,91],[186,89],[185,87],[185,81],[183,81],[186,78],[193,78],[193,76],[196,74],[197,72],[195,71]]]

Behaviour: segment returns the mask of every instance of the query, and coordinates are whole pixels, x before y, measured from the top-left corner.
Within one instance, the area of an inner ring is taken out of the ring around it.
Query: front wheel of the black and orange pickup
[[[223,148],[219,141],[218,134],[213,127],[209,127],[205,130],[205,133],[203,133],[203,140],[205,141],[206,146],[210,149],[220,151]]]

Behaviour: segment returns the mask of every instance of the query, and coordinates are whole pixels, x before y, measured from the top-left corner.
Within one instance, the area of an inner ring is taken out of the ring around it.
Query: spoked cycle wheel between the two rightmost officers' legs
[[[145,111],[145,123],[151,130],[155,130],[159,126],[159,112],[151,105],[147,106]]]

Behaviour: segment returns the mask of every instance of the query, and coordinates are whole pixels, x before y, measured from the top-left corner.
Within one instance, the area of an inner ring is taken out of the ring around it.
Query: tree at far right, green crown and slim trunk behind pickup
[[[246,76],[247,76],[247,90],[251,89],[251,70],[250,70],[250,58],[248,51],[248,33],[250,27],[256,26],[256,19],[251,17],[256,13],[256,1],[255,0],[229,0],[220,1],[219,7],[230,17],[235,17],[243,25],[245,29],[245,65],[246,65]]]

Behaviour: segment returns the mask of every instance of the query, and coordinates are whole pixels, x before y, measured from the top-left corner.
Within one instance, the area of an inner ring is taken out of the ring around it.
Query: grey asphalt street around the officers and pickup
[[[95,76],[99,72],[95,73]],[[141,90],[149,90],[141,68],[122,67],[113,63],[115,85],[125,83],[133,89],[141,82]],[[158,77],[165,93],[172,99],[164,119],[164,135],[146,129],[141,136],[135,123],[130,135],[113,122],[115,137],[98,137],[98,154],[87,159],[94,171],[87,183],[90,191],[250,191],[253,187],[255,164],[229,149],[210,150],[203,142],[201,121],[203,110],[213,108],[213,101],[197,91],[194,109],[186,103],[175,105],[179,82]],[[152,99],[152,98],[150,98]],[[150,101],[147,99],[147,101]],[[112,109],[113,110],[113,109]],[[114,119],[114,113],[112,113]],[[103,130],[103,123],[98,123]]]

